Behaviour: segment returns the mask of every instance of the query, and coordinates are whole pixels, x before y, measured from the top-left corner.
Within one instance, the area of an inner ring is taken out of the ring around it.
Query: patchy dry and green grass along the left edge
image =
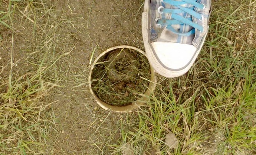
[[[77,86],[76,82],[66,84],[70,81],[65,77],[69,72],[73,73],[70,71],[72,65],[67,60],[69,53],[59,52],[61,45],[58,46],[58,38],[54,38],[57,33],[54,28],[37,23],[44,15],[49,24],[50,18],[55,15],[52,7],[33,0],[0,1],[0,7],[3,10],[0,11],[3,15],[0,16],[0,30],[12,30],[10,58],[6,64],[1,63],[4,66],[0,70],[0,154],[46,154],[46,149],[51,148],[53,143],[50,136],[59,132],[55,129],[58,120],[52,108],[56,101],[50,99],[56,94],[56,87]],[[14,59],[14,40],[19,32],[16,28],[18,17],[22,17],[19,25],[27,24],[34,28],[33,36],[29,37],[36,44],[31,43],[19,51],[25,56],[17,61]],[[60,19],[56,21],[55,28],[69,25],[72,20]],[[2,51],[0,54],[4,55]],[[63,65],[63,62],[69,65]],[[15,66],[16,63],[20,66]]]

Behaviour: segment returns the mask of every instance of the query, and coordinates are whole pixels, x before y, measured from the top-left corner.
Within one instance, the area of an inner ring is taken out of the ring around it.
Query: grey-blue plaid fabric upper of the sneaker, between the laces
[[[209,10],[210,10],[210,0],[198,0],[198,3],[205,4],[206,5],[206,11],[202,11],[200,9],[194,8],[195,11],[197,11],[200,14],[203,14],[204,18],[208,18],[209,16]],[[151,0],[150,3],[150,40],[151,42],[154,41],[168,41],[168,42],[176,42],[181,44],[200,44],[200,38],[202,33],[196,31],[196,34],[190,35],[188,37],[181,36],[174,34],[172,31],[168,30],[167,25],[156,25],[155,19],[156,18],[162,18],[162,19],[171,19],[171,14],[160,14],[158,13],[158,7],[163,6],[164,8],[171,8],[175,9],[176,7],[170,6],[167,3],[162,3],[161,0]],[[186,4],[184,7],[191,7],[190,4]],[[208,10],[208,11],[207,11]],[[182,13],[180,14],[183,17],[191,17],[190,14]],[[197,18],[193,18],[193,21],[198,24],[203,24],[202,21],[198,20]],[[190,25],[185,24],[179,24],[179,25],[171,25],[176,31],[178,32],[188,32],[193,29]],[[203,32],[204,33],[204,32]],[[196,42],[194,42],[194,41]]]

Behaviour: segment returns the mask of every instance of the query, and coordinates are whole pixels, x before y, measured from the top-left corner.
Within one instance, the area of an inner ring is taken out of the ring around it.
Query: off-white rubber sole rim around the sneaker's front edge
[[[147,0],[146,0],[147,1]],[[194,55],[193,59],[190,61],[190,63],[186,66],[186,68],[178,70],[178,71],[173,71],[173,70],[169,70],[167,68],[165,68],[157,59],[157,57],[155,56],[151,45],[150,45],[150,39],[149,39],[149,34],[148,34],[148,28],[149,28],[149,21],[148,21],[148,13],[147,13],[147,9],[148,9],[148,2],[145,1],[144,4],[144,12],[142,13],[142,37],[143,37],[143,42],[144,42],[144,47],[145,47],[145,51],[148,57],[148,61],[150,62],[152,68],[154,68],[155,72],[157,72],[158,74],[165,76],[165,77],[178,77],[181,75],[184,75],[186,72],[188,72],[188,70],[191,68],[191,66],[193,65],[193,63],[196,61],[196,58],[198,56],[198,54],[200,53],[200,50],[203,46],[203,44],[201,44],[201,46],[199,47],[199,50],[196,52],[196,54]],[[202,41],[204,42],[206,36],[204,36],[202,38]]]

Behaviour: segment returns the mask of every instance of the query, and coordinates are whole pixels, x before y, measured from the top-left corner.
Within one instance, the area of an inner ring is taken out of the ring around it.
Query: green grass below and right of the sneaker
[[[255,154],[256,49],[240,36],[252,19],[252,1],[214,1],[209,35],[185,75],[159,77],[148,108],[138,111],[135,131],[122,134],[116,152],[134,154]],[[232,41],[230,45],[228,41]],[[173,132],[177,148],[165,144]]]

